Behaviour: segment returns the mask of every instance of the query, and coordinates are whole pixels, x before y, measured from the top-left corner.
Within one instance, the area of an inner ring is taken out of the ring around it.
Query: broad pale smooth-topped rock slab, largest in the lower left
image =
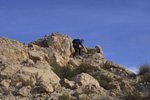
[[[33,84],[36,82],[51,82],[59,83],[60,78],[52,71],[47,69],[38,69],[35,67],[22,67],[19,73],[12,77],[12,84],[18,82],[32,81]]]

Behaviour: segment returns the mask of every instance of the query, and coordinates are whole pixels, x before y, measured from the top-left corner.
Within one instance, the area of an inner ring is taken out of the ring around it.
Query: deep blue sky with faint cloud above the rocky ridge
[[[52,32],[135,71],[150,63],[150,0],[0,0],[1,37],[30,43]]]

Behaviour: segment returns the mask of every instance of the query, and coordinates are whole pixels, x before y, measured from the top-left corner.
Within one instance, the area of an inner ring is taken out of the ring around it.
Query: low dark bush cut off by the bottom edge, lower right
[[[123,100],[144,100],[144,98],[138,92],[133,92],[123,97]]]

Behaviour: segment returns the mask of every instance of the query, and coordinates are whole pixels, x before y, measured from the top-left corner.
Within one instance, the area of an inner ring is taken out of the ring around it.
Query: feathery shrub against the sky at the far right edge
[[[140,66],[139,75],[144,75],[145,73],[150,73],[150,64],[143,64]]]

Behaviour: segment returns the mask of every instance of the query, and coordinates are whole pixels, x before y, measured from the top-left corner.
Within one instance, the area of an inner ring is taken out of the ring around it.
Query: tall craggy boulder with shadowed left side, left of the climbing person
[[[44,52],[48,54],[46,60],[49,64],[57,63],[64,66],[68,64],[69,56],[73,52],[72,39],[61,33],[52,33],[50,36],[31,42],[31,44],[48,47]]]

